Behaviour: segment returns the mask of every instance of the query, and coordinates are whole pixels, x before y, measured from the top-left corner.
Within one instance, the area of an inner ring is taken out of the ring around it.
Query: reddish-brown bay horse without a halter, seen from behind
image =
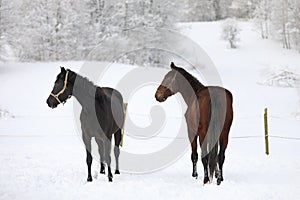
[[[181,93],[188,107],[185,119],[192,149],[192,176],[198,177],[197,140],[199,138],[204,167],[203,183],[211,182],[215,173],[217,184],[220,185],[224,180],[225,150],[233,120],[232,94],[222,87],[204,86],[186,70],[175,66],[173,62],[170,66],[171,71],[165,75],[157,88],[155,98],[159,102],[164,102],[175,93]],[[218,147],[220,147],[219,153]]]

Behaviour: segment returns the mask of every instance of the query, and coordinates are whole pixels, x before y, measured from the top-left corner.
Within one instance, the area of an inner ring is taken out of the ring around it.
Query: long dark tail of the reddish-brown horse
[[[225,120],[225,103],[226,92],[219,88],[209,90],[210,93],[210,112],[209,112],[209,128],[207,132],[208,151],[209,151],[209,169],[211,179],[215,172],[218,160],[219,138]],[[224,101],[223,101],[224,98]]]

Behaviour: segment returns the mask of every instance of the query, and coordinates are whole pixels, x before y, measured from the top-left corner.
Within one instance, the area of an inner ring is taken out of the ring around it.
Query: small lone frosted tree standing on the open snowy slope
[[[222,28],[222,39],[227,40],[230,44],[230,48],[237,48],[237,42],[239,39],[239,33],[241,29],[239,28],[235,19],[227,19]]]

